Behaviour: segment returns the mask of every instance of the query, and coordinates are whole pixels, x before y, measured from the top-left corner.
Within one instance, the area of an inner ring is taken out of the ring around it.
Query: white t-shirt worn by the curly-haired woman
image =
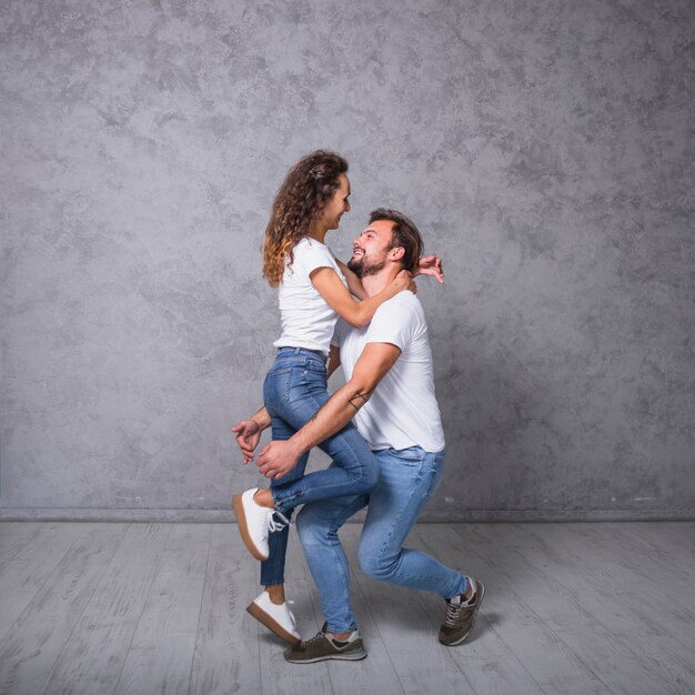
[[[294,261],[285,260],[279,289],[282,335],[276,348],[306,348],[329,354],[338,314],[325,303],[311,283],[310,274],[318,268],[332,268],[348,284],[333,252],[320,241],[304,236],[294,246]]]

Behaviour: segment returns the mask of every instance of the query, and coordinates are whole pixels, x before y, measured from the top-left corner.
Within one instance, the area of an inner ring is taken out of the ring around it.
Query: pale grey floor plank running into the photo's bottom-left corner
[[[0,693],[40,693],[127,524],[89,524],[0,641]]]

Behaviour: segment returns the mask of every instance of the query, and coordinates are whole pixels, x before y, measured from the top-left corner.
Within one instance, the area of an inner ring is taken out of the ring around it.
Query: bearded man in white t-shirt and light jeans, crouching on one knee
[[[354,241],[349,266],[371,296],[402,269],[413,271],[421,250],[415,225],[399,212],[380,209]],[[340,353],[332,350],[329,371],[340,359],[346,384],[293,436],[268,444],[256,465],[269,477],[285,475],[302,454],[354,417],[379,460],[381,477],[369,497],[336,497],[308,504],[300,512],[296,527],[325,623],[315,637],[286,649],[285,659],[314,663],[366,656],[350,603],[350,573],[338,530],[367,503],[357,553],[362,570],[375,580],[439,593],[446,601],[440,642],[460,644],[473,627],[483,584],[402,546],[434,494],[444,463],[422,305],[411,292],[401,292],[380,306],[369,326],[353,329],[339,322],[334,342]]]

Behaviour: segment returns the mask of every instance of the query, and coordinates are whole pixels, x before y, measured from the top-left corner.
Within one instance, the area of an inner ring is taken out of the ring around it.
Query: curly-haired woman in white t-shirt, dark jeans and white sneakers
[[[346,171],[342,157],[313,152],[288,173],[273,203],[263,244],[263,275],[279,288],[282,335],[274,343],[278,355],[263,385],[264,407],[232,427],[246,462],[263,429],[270,425],[273,440],[286,440],[328,401],[332,369],[326,367],[326,357],[338,316],[355,326],[366,325],[383,302],[415,290],[411,275],[402,271],[386,290],[366,298],[356,275],[325,245],[329,230],[336,229],[350,210]],[[439,265],[436,256],[423,259],[426,272],[437,274]],[[270,488],[251,488],[233,498],[242,538],[262,561],[265,586],[248,610],[293,644],[300,637],[284,602],[286,524],[292,510],[306,502],[369,492],[379,479],[376,460],[352,423],[321,449],[331,456],[331,467],[304,475],[305,454],[284,477],[271,479]]]

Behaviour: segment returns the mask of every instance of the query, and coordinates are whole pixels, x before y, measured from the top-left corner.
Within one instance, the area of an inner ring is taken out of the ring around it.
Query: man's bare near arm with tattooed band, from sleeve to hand
[[[266,477],[282,477],[312,446],[342,430],[370,400],[372,392],[401,355],[391,343],[367,343],[350,381],[292,437],[268,444],[256,461]]]

